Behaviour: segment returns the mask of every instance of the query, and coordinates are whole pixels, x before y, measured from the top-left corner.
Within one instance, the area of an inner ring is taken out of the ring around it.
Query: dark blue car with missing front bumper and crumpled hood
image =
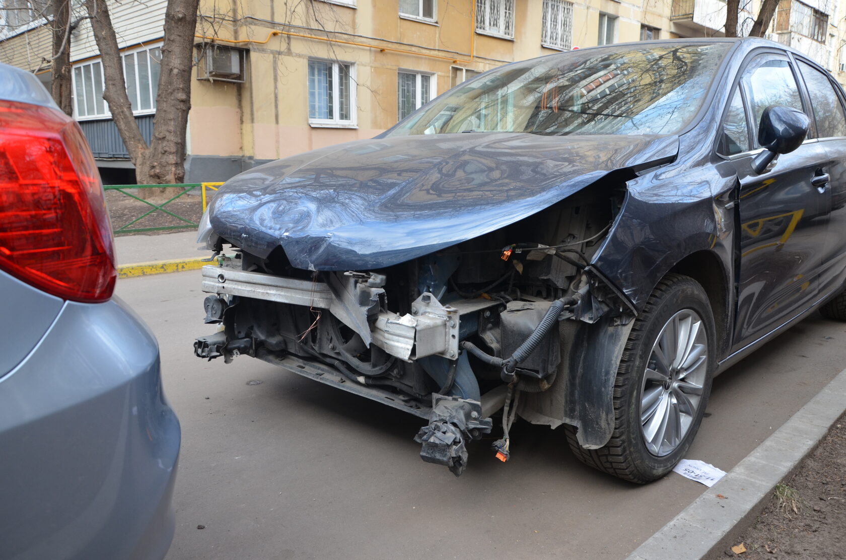
[[[655,480],[713,376],[818,308],[846,320],[844,102],[761,39],[481,74],[372,140],[223,185],[200,235],[221,327],[195,354],[418,415],[421,457],[455,475],[484,434],[507,460],[519,416]]]

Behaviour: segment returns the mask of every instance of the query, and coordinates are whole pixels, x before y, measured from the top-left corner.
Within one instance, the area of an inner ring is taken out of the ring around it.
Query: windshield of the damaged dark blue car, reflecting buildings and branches
[[[508,64],[437,97],[388,136],[674,134],[699,111],[729,47],[653,43]]]

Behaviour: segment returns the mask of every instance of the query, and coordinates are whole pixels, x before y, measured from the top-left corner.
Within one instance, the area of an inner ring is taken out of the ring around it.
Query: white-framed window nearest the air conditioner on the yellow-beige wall
[[[355,65],[309,59],[309,124],[355,126]]]

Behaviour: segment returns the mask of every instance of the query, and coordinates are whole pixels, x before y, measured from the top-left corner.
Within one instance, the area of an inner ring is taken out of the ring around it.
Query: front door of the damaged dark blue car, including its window
[[[792,64],[783,55],[753,58],[740,79],[752,126],[753,151],[761,113],[770,105],[806,114]],[[780,327],[816,301],[826,241],[830,197],[815,175],[826,162],[818,142],[805,140],[778,156],[764,173],[752,172],[752,156],[736,160],[739,277],[734,343],[739,349]]]

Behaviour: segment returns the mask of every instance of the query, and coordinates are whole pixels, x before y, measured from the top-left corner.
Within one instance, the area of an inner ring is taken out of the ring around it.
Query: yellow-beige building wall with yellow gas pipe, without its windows
[[[397,122],[399,69],[434,74],[440,94],[454,85],[454,67],[482,72],[558,52],[541,47],[542,0],[517,0],[513,39],[476,33],[473,0],[437,2],[436,23],[400,16],[398,0],[358,0],[355,7],[319,0],[297,5],[292,13],[281,0],[201,3],[198,34],[206,41],[249,49],[249,63],[243,84],[195,80],[190,116],[195,158],[239,156],[263,162],[370,138]],[[240,14],[242,8],[251,17]],[[616,42],[638,41],[641,21],[668,36],[666,6],[655,0],[587,0],[574,3],[573,9],[574,47],[596,45],[601,13],[618,18]],[[274,30],[325,37],[324,28],[333,32],[332,39],[359,44],[286,34],[268,38]],[[228,42],[250,40],[255,42]],[[309,124],[309,58],[355,64],[356,128]]]

